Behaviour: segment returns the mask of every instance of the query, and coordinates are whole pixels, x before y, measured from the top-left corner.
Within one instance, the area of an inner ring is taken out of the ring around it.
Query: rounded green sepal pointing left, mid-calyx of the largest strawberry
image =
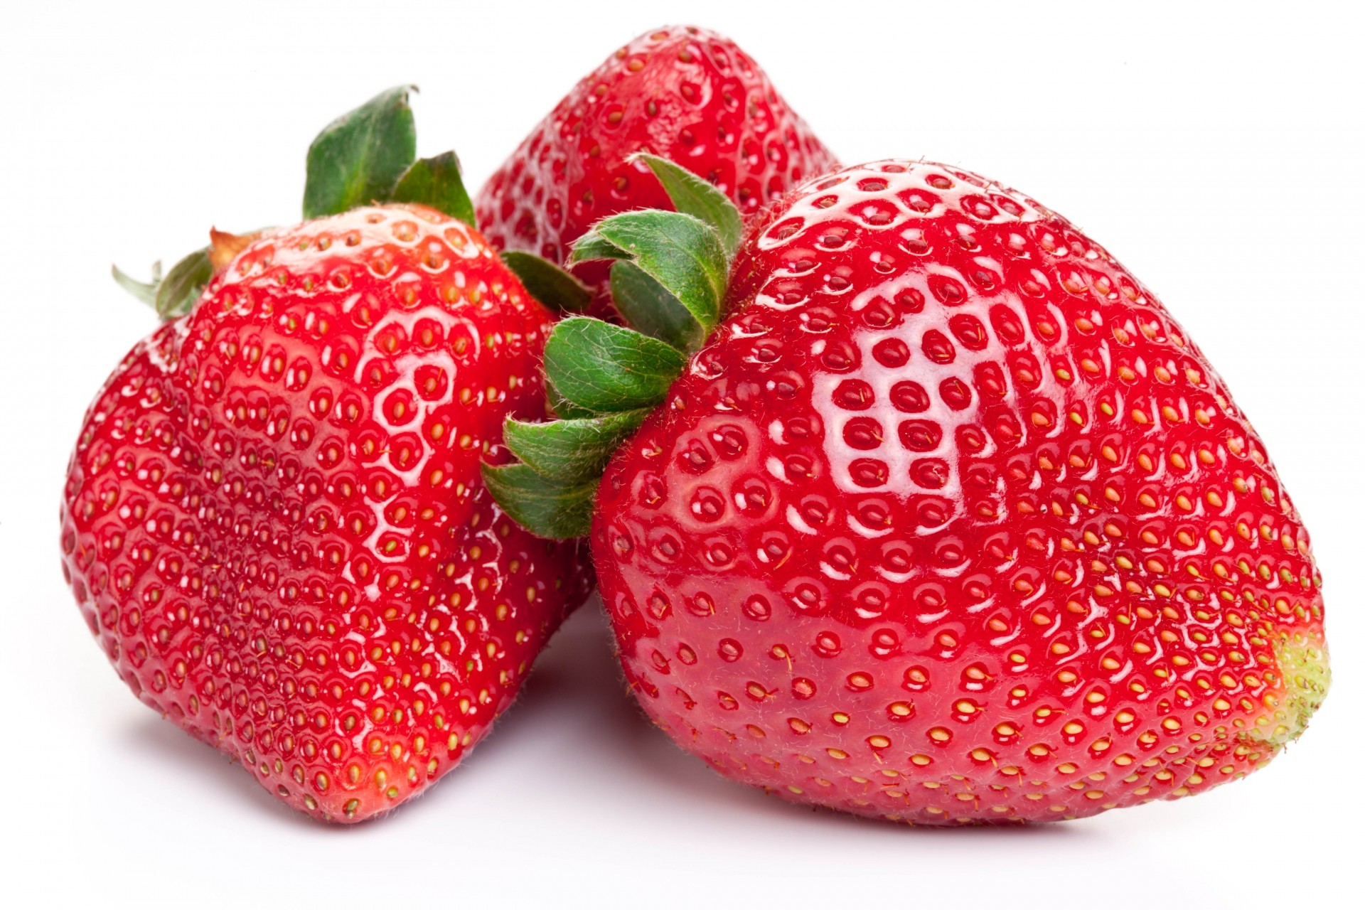
[[[676,348],[590,317],[569,317],[545,342],[545,375],[561,396],[598,413],[652,408],[682,372]]]

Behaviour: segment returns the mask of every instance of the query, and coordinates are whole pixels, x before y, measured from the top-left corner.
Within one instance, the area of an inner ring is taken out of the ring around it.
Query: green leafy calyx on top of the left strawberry
[[[308,146],[303,190],[306,220],[363,205],[400,202],[423,205],[474,225],[474,203],[464,188],[456,154],[416,157],[416,124],[410,104],[415,90],[415,86],[397,86],[381,91],[324,127]],[[113,280],[156,310],[162,321],[177,319],[194,308],[209,281],[261,233],[232,235],[213,229],[209,246],[176,262],[165,276],[157,262],[152,266],[152,281],[138,281],[117,266],[113,266]],[[513,271],[521,274],[516,267]],[[551,306],[546,300],[542,303]]]

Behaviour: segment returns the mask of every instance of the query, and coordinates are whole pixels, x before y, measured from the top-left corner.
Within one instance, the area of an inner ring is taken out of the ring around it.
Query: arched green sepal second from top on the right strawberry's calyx
[[[715,231],[681,211],[646,209],[599,221],[590,235],[622,250],[651,278],[667,288],[706,332],[715,327],[725,299],[729,261]],[[590,248],[602,244],[594,241]],[[576,262],[579,247],[571,261]]]

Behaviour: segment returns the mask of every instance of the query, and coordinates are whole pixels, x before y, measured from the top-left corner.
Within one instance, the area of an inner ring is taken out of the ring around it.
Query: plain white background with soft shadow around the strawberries
[[[1317,909],[1358,896],[1357,4],[487,7],[5,4],[8,906]],[[210,225],[296,220],[317,130],[401,82],[422,87],[420,153],[456,146],[478,187],[579,76],[665,22],[736,38],[845,162],[958,162],[1065,213],[1203,345],[1268,442],[1327,581],[1334,688],[1269,769],[1196,799],[1031,830],[812,813],[714,776],[650,727],[592,604],[461,768],[388,819],[333,830],[291,814],[117,682],[57,559],[81,415],[154,326],[109,263],[145,274],[202,246]]]

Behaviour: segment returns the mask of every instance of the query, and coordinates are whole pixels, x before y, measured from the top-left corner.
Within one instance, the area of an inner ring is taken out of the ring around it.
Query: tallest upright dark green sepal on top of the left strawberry
[[[408,104],[414,90],[397,86],[382,91],[318,134],[308,146],[304,218],[337,214],[392,195],[418,154]]]

